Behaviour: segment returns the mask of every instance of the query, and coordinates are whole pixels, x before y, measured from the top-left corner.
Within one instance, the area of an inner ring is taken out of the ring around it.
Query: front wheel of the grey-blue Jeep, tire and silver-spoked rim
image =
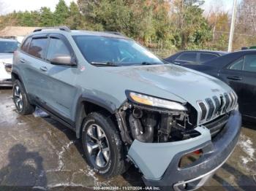
[[[111,177],[124,172],[123,144],[109,117],[89,114],[83,123],[82,141],[86,161],[98,174]]]

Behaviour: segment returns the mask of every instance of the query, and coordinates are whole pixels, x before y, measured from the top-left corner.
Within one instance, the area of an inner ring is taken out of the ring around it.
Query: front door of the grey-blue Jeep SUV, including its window
[[[75,74],[77,68],[59,63],[55,65],[50,63],[58,56],[71,56],[72,50],[69,44],[65,42],[62,36],[51,35],[46,59],[48,60],[48,77],[49,84],[47,103],[58,114],[67,119],[72,118],[72,106],[75,95]]]

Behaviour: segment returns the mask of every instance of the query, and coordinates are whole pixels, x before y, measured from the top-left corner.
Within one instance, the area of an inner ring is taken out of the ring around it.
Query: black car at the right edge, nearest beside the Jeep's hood
[[[224,55],[203,65],[184,65],[226,82],[238,95],[245,120],[256,120],[256,50],[243,50]]]

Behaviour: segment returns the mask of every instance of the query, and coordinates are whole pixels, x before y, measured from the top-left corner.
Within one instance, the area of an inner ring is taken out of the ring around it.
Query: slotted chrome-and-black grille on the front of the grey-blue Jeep
[[[197,101],[200,107],[200,124],[209,122],[222,114],[230,112],[237,104],[237,95],[234,92],[214,95],[206,98],[205,101]]]

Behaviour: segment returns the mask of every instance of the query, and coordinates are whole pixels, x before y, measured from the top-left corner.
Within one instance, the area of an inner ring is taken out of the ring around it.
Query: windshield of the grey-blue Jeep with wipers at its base
[[[154,54],[130,39],[73,36],[86,61],[108,66],[162,64]]]

